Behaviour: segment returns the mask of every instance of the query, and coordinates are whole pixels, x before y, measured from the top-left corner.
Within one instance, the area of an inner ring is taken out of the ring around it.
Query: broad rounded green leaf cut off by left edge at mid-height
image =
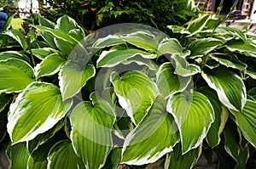
[[[25,61],[20,59],[0,61],[0,92],[20,92],[34,81],[34,71]]]

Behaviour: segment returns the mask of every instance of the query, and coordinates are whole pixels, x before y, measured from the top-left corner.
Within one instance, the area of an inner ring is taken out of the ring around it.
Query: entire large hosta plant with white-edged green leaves
[[[256,35],[211,15],[166,35],[72,18],[1,36],[0,137],[12,168],[255,166]]]

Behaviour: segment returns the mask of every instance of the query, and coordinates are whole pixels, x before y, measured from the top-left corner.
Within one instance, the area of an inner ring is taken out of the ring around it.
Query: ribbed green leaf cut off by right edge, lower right
[[[248,142],[256,147],[256,102],[247,100],[243,110],[230,110],[236,117],[236,124],[241,129],[242,135],[247,138]]]

